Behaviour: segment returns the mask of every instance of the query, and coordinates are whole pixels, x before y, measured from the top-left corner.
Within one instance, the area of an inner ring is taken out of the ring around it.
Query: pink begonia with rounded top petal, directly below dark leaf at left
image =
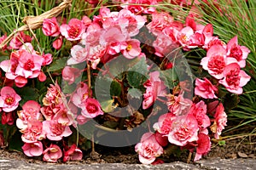
[[[16,126],[20,129],[25,129],[27,127],[28,120],[38,120],[43,121],[43,116],[40,113],[40,105],[34,100],[28,100],[22,106],[21,111],[17,111],[19,118],[16,120]]]

